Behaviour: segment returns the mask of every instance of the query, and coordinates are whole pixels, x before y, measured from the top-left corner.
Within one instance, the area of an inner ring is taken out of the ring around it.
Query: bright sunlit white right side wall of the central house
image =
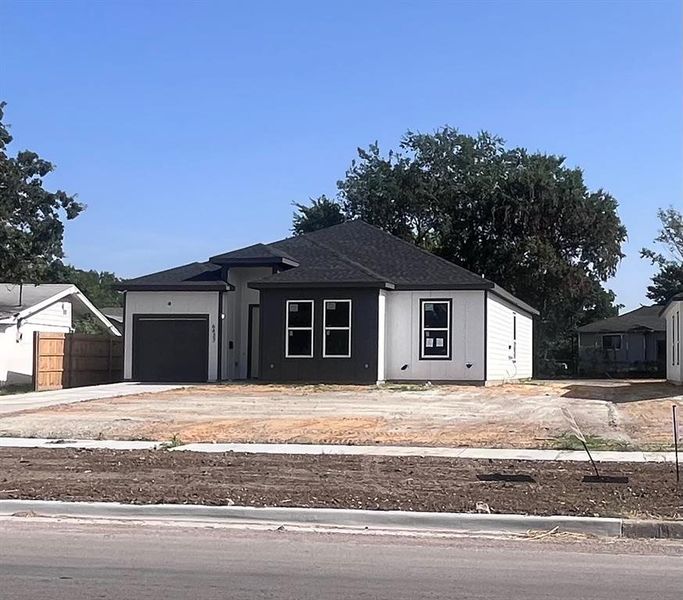
[[[491,293],[486,300],[486,379],[528,379],[533,372],[533,319]],[[517,316],[517,358],[513,357],[513,319]]]

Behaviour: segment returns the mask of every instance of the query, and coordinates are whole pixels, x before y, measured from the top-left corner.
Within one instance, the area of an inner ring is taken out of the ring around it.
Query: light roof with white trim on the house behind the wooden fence
[[[83,292],[70,283],[0,283],[0,323],[19,323],[60,300],[71,302],[77,314],[92,314],[112,335],[121,335]]]

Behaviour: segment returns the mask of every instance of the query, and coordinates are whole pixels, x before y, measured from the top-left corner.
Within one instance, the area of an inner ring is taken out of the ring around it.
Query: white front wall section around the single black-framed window
[[[453,301],[450,360],[420,360],[420,300],[429,298]],[[483,381],[484,292],[387,292],[385,303],[386,379]]]

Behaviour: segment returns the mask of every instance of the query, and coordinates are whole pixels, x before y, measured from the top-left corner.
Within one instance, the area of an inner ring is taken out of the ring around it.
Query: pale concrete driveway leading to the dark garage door
[[[182,386],[158,385],[149,383],[110,383],[106,385],[91,385],[67,390],[52,390],[49,392],[29,392],[27,394],[9,394],[0,396],[0,415],[22,410],[34,410],[72,402],[85,400],[100,400],[118,396],[133,396],[138,394],[167,392]]]

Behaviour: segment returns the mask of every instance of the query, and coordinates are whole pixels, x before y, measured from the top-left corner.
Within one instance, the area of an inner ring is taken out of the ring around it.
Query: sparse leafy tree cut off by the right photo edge
[[[683,291],[683,214],[673,207],[659,209],[661,223],[655,243],[664,251],[643,248],[640,255],[659,267],[647,288],[647,297],[657,304],[666,304],[677,292]]]

